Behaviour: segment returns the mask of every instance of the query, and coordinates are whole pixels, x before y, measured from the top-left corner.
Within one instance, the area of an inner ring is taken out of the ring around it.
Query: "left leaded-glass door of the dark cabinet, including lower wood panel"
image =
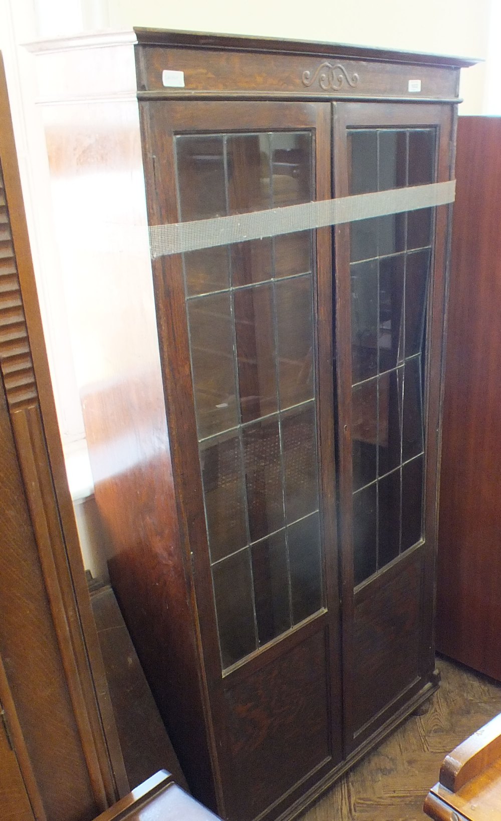
[[[153,102],[142,117],[150,223],[329,199],[329,104]],[[218,810],[240,821],[278,815],[341,756],[330,241],[154,261]]]

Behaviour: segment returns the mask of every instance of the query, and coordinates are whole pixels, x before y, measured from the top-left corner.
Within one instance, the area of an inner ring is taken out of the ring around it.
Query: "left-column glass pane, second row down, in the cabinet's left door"
[[[230,295],[187,303],[191,371],[199,438],[238,424]]]

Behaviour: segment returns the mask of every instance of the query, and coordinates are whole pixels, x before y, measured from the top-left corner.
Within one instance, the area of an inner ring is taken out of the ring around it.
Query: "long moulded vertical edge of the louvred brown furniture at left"
[[[0,161],[16,256],[16,275],[27,329],[32,369],[30,396],[16,401],[7,391],[12,432],[33,521],[57,643],[76,716],[76,724],[99,807],[112,804],[128,789],[117,736],[113,734],[111,704],[103,693],[103,661],[67,487],[52,383],[44,346],[44,332],[25,219],[16,143],[10,116],[7,80],[0,53]],[[3,374],[0,363],[0,374]],[[81,576],[81,578],[79,577]],[[99,688],[94,681],[97,667]],[[109,698],[108,698],[109,701]],[[103,714],[107,716],[107,735]],[[108,737],[109,732],[109,737]],[[116,733],[116,727],[114,732]]]

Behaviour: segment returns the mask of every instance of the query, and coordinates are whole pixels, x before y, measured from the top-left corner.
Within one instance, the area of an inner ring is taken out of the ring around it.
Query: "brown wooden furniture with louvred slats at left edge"
[[[4,768],[13,777],[5,797],[2,782],[2,812],[24,819],[29,802],[37,821],[92,819],[127,785],[67,488],[1,60],[0,488],[0,735],[2,777]]]

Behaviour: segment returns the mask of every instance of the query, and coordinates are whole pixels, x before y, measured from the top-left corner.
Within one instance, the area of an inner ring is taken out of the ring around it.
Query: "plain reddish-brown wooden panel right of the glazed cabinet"
[[[437,647],[501,680],[501,118],[459,117],[456,163]]]

